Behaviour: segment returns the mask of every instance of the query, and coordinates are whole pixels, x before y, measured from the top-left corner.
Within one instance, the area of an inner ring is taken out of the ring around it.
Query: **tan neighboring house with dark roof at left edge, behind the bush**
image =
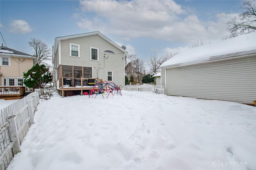
[[[36,63],[37,57],[8,47],[0,47],[0,85],[25,86],[23,72],[27,72]],[[26,87],[26,91],[28,90]]]

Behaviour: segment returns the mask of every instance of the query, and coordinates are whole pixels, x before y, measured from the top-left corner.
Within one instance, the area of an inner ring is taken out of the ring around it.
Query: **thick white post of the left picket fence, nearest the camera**
[[[16,124],[16,115],[12,115],[8,117],[8,121],[10,123],[9,129],[10,129],[10,140],[13,143],[13,154],[16,154],[20,152],[20,141],[19,141],[19,134]]]

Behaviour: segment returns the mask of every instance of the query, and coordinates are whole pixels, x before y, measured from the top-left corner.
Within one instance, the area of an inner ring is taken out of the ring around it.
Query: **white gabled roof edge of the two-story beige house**
[[[114,45],[116,48],[120,49],[122,52],[128,53],[127,51],[125,51],[125,49],[123,49],[122,47],[120,47],[119,45],[117,45],[116,43],[114,43],[113,41],[111,41],[109,38],[107,38],[106,36],[104,36],[103,34],[101,34],[98,31],[88,32],[88,33],[83,33],[83,34],[75,34],[75,35],[70,35],[70,36],[56,37],[55,42],[54,42],[54,47],[55,47],[54,52],[56,53],[56,50],[57,50],[56,47],[58,46],[58,42],[61,40],[68,40],[68,39],[72,39],[72,38],[80,38],[80,37],[87,37],[87,36],[94,36],[94,35],[100,36],[101,38],[103,38],[104,40],[109,42],[110,44]]]

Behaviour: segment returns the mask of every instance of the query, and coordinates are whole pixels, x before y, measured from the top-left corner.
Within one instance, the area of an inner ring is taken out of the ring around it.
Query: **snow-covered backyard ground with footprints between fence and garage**
[[[40,101],[7,170],[256,169],[256,107],[122,93]]]

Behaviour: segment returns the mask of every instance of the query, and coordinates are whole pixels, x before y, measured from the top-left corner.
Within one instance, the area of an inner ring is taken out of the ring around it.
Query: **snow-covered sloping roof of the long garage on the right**
[[[256,54],[256,32],[180,51],[174,57],[162,63],[160,68],[190,65],[250,54]]]

